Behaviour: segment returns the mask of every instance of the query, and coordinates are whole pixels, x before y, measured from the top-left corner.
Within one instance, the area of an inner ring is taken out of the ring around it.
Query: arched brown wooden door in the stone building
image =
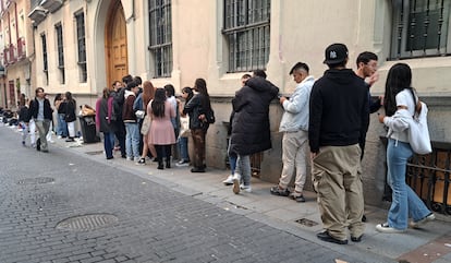
[[[124,10],[121,1],[111,2],[105,28],[107,85],[121,81],[122,76],[129,74]]]

